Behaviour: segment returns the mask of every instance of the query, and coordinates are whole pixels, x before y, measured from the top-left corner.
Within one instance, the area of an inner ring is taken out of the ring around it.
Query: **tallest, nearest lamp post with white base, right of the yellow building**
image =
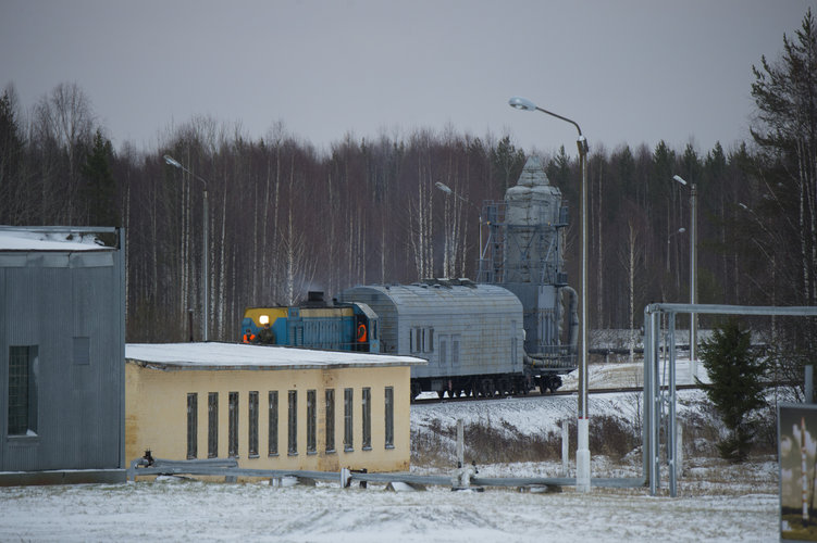
[[[582,206],[582,316],[581,343],[582,356],[579,363],[579,408],[578,408],[578,446],[575,451],[575,488],[579,492],[590,492],[590,422],[587,419],[587,139],[579,125],[567,117],[539,108],[535,103],[521,97],[512,97],[508,105],[522,111],[541,111],[553,117],[575,126],[579,131],[577,147],[582,168],[581,206]]]

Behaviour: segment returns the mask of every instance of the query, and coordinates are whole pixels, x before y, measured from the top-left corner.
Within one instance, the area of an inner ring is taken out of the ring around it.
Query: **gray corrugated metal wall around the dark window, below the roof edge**
[[[0,470],[120,468],[121,251],[27,254],[0,253]],[[36,435],[8,435],[12,345],[37,346]]]

